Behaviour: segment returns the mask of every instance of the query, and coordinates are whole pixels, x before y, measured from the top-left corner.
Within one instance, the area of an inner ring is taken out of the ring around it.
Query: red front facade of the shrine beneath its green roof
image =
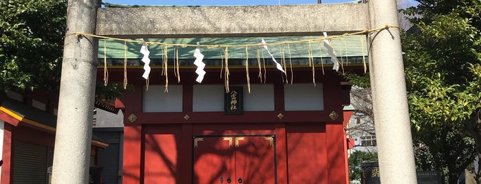
[[[341,85],[336,71],[316,75],[314,86],[310,69],[294,69],[294,84],[286,84],[276,69],[267,69],[267,82],[251,82],[248,93],[245,69],[231,69],[229,85],[243,87],[244,100],[237,102],[244,109],[229,114],[222,108],[212,110],[212,104],[224,107],[230,102],[224,98],[220,70],[206,70],[198,84],[194,69],[181,69],[181,82],[169,84],[165,93],[164,77],[150,78],[147,90],[143,69],[127,69],[135,91],[122,98],[123,183],[348,182],[343,102],[349,96],[343,94],[350,88]],[[124,78],[123,69],[111,68],[109,75],[110,81]],[[167,75],[176,78],[174,73]],[[312,94],[320,96],[321,109],[309,107],[309,101],[316,101]],[[251,95],[258,98],[252,100]],[[215,100],[219,98],[224,101]],[[180,105],[170,103],[174,99]],[[270,103],[266,99],[272,99],[272,108],[252,110]],[[154,112],[152,106],[162,112]]]

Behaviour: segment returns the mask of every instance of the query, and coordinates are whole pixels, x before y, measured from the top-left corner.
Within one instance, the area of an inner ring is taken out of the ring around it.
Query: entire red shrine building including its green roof
[[[267,43],[315,36],[264,38]],[[361,70],[361,36],[331,41],[341,68],[322,42],[229,47],[261,38],[145,39],[142,43],[99,41],[98,80],[126,82],[123,183],[348,183],[343,106],[350,84],[343,71]],[[206,63],[196,81],[195,47]],[[106,47],[104,47],[106,44]],[[107,66],[106,69],[104,65]],[[133,90],[132,90],[133,89]]]

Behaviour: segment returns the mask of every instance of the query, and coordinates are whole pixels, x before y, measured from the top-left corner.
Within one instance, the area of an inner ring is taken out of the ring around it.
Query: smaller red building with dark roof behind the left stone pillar
[[[0,183],[48,183],[52,172],[58,94],[0,92]],[[90,164],[108,143],[92,135]],[[49,169],[50,168],[50,169]]]

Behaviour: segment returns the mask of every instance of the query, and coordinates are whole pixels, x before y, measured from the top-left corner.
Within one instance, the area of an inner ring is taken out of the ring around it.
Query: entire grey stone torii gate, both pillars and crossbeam
[[[98,39],[77,32],[119,38],[292,36],[387,24],[398,25],[395,0],[163,8],[100,8],[99,0],[70,0],[52,183],[88,182]],[[416,183],[399,31],[386,27],[367,37],[381,182]]]

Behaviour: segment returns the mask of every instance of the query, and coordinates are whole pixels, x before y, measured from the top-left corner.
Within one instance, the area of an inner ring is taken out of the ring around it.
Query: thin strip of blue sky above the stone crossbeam
[[[107,3],[130,5],[278,5],[313,4],[317,0],[104,0]],[[345,3],[354,0],[322,0],[322,3]]]

